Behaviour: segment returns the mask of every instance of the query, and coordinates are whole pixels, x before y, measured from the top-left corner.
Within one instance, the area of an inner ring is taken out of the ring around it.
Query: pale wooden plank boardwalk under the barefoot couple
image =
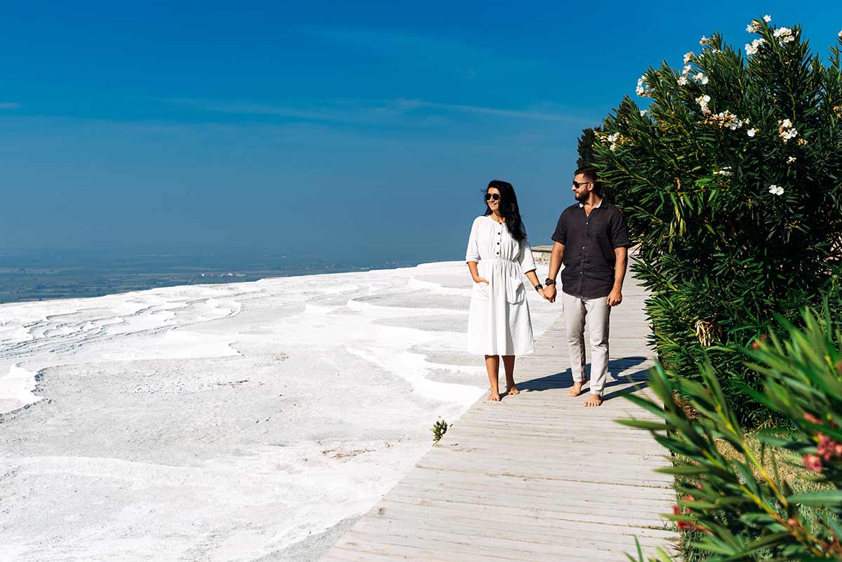
[[[622,398],[649,392],[644,296],[627,279],[611,313],[603,406],[567,394],[560,317],[538,353],[518,358],[520,395],[477,400],[322,562],[621,561],[635,537],[649,553],[669,549],[677,535],[660,514],[675,502],[672,478],[653,471],[669,461],[647,432],[614,422],[655,419]]]

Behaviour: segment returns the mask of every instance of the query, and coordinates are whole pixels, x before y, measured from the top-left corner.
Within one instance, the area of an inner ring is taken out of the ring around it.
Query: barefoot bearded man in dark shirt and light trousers
[[[590,396],[584,405],[600,406],[608,374],[610,311],[623,300],[623,278],[631,243],[620,209],[600,195],[595,168],[576,170],[573,197],[577,203],[564,209],[552,235],[555,244],[544,297],[550,302],[556,300],[556,276],[563,262],[562,307],[573,371],[573,388],[568,394],[580,395],[587,382],[584,374],[587,323],[591,345]]]

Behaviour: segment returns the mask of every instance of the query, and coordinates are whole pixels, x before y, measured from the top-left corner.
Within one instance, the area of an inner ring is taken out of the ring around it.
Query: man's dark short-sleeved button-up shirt
[[[620,209],[605,199],[590,215],[580,203],[564,209],[552,240],[564,244],[562,290],[583,299],[608,296],[614,286],[614,249],[632,245]]]

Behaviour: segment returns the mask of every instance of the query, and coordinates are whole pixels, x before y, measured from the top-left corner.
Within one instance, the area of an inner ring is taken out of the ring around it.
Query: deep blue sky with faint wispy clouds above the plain
[[[549,241],[576,139],[701,35],[836,2],[16,3],[0,250],[461,259],[490,179]]]

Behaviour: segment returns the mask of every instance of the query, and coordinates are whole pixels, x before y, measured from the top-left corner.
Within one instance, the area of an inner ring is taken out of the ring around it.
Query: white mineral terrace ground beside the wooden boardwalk
[[[0,305],[0,560],[317,557],[484,392],[470,294],[442,262]]]

